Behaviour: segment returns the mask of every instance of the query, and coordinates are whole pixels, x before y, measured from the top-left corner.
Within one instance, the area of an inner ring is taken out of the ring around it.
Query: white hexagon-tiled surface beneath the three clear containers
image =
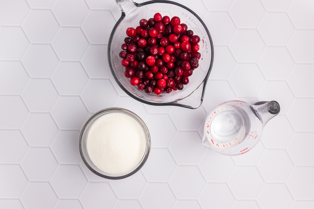
[[[314,2],[174,1],[202,18],[214,44],[194,110],[146,105],[116,84],[115,1],[0,0],[1,209],[314,208]],[[239,156],[201,144],[206,115],[229,100],[281,107]],[[108,107],[136,113],[151,135],[146,164],[123,180],[95,175],[78,150],[84,122]]]

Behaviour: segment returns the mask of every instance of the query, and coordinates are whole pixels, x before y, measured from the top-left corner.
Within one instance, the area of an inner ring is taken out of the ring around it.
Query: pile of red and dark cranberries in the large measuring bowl
[[[119,53],[130,83],[146,93],[156,95],[182,90],[198,67],[200,37],[180,24],[179,17],[162,17],[156,13],[139,26],[127,29],[125,44]]]

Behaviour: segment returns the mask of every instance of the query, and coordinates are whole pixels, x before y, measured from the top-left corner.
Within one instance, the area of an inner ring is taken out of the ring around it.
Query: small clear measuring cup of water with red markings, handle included
[[[202,144],[225,155],[244,154],[257,144],[264,126],[279,111],[276,101],[224,102],[206,118]]]

